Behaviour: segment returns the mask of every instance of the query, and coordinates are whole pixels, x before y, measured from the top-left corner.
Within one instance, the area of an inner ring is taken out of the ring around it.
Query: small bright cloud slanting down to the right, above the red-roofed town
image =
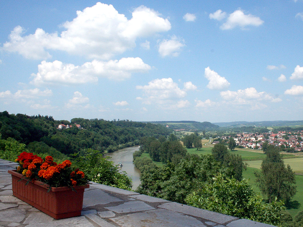
[[[205,68],[205,77],[209,80],[207,87],[211,90],[222,90],[230,85],[225,77],[221,77],[209,67]]]

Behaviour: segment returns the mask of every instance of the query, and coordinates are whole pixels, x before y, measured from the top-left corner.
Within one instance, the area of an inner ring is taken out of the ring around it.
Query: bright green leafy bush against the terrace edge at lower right
[[[279,214],[285,209],[284,204],[276,200],[263,204],[262,198],[253,191],[246,179],[238,181],[220,173],[209,183],[196,188],[185,202],[201,209],[272,225],[279,223]]]

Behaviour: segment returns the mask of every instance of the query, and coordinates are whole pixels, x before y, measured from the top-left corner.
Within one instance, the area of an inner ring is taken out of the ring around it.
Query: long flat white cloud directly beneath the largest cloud
[[[146,72],[151,67],[145,64],[141,58],[121,58],[107,62],[93,60],[82,66],[64,64],[61,61],[42,61],[38,65],[38,73],[32,74],[31,83],[42,84],[85,84],[97,82],[99,77],[112,80],[124,80],[132,73]]]

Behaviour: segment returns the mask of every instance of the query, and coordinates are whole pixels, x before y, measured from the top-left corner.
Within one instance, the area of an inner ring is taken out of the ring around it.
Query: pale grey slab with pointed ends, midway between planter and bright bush
[[[141,202],[141,201],[125,202],[118,206],[110,206],[104,208],[116,213],[138,212],[138,211],[155,209],[152,206],[149,206],[145,202]]]

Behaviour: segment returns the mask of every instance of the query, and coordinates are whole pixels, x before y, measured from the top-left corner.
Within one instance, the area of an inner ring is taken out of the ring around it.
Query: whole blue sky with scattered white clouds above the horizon
[[[0,8],[0,111],[57,120],[302,120],[302,0]]]

